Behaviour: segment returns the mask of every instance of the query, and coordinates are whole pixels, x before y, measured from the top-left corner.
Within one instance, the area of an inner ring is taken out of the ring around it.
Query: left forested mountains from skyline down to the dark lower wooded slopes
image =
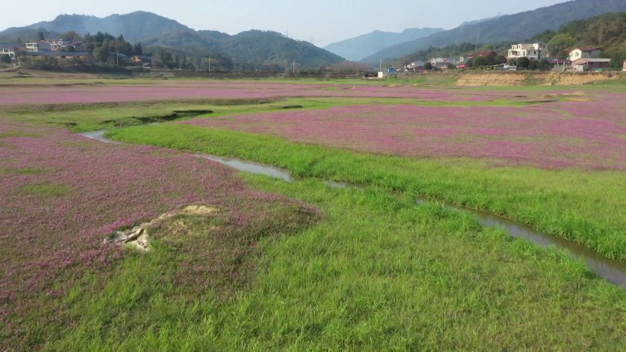
[[[110,47],[111,52],[119,51],[127,55],[136,52],[126,45],[120,48],[118,44],[141,43],[146,53],[156,54],[159,63],[168,63],[166,66],[172,68],[208,68],[208,62],[212,61],[212,69],[254,70],[262,66],[264,70],[283,71],[291,69],[294,61],[296,69],[332,66],[345,61],[341,56],[311,43],[290,39],[274,31],[253,29],[233,36],[219,31],[195,31],[173,19],[144,11],[105,18],[60,15],[53,21],[6,29],[0,32],[0,43],[22,44],[38,41],[41,36],[59,39],[68,33],[72,33],[72,38],[64,39],[81,40],[83,34],[90,37],[89,33],[99,33],[107,38],[111,36],[113,39],[106,40],[106,43],[97,43]],[[115,41],[118,43],[113,43]],[[93,52],[95,46],[88,51]],[[98,51],[96,54],[101,54],[104,58],[101,61],[106,61],[108,52]]]

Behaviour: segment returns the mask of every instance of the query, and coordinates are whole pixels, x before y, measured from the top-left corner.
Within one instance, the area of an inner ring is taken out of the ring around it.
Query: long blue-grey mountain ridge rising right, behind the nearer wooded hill
[[[362,62],[394,60],[429,46],[446,46],[460,43],[500,43],[521,41],[562,24],[586,19],[608,12],[626,11],[626,0],[573,0],[538,8],[533,11],[500,16],[480,23],[459,26],[430,36],[406,41],[367,56]]]

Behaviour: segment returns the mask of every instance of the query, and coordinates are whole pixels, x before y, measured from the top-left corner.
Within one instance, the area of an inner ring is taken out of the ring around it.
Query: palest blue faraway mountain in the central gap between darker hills
[[[354,38],[337,41],[324,46],[324,49],[346,58],[358,61],[387,46],[423,38],[433,33],[444,31],[443,28],[407,28],[400,33],[372,31]]]

